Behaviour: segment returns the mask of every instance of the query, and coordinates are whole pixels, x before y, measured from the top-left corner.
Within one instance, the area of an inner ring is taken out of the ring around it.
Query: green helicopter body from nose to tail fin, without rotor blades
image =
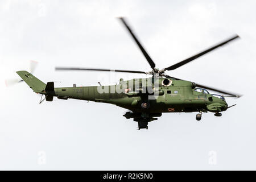
[[[138,122],[139,129],[146,128],[162,113],[214,112],[220,115],[228,108],[224,97],[218,98],[207,90],[195,91],[195,84],[172,78],[141,78],[121,81],[111,86],[81,86],[55,88],[54,82],[40,81],[27,71],[16,72],[36,93],[44,94],[46,101],[53,97],[114,104],[131,110],[124,117]],[[40,102],[41,103],[41,102]],[[201,119],[201,115],[197,120]]]

